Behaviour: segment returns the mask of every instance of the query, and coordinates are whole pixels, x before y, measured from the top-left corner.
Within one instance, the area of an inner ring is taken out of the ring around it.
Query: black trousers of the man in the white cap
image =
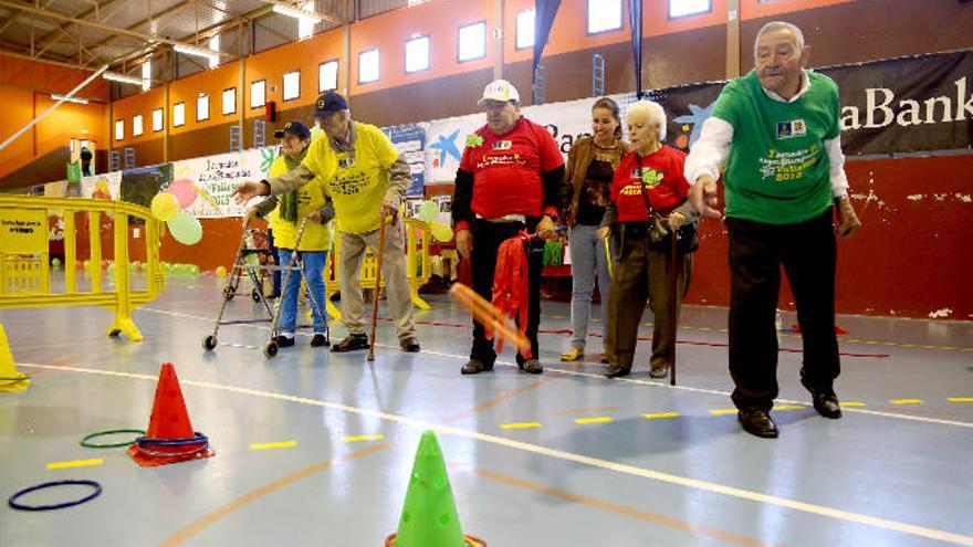
[[[536,220],[529,220],[530,227],[536,225]],[[493,299],[493,272],[496,269],[496,254],[500,245],[510,238],[515,236],[524,224],[520,222],[489,222],[477,219],[473,222],[473,251],[470,265],[473,271],[473,291],[490,302]],[[537,328],[541,325],[541,270],[544,267],[544,240],[532,240],[527,249],[527,325],[517,326],[524,329],[524,334],[531,341],[531,354],[538,358]],[[473,348],[470,358],[493,365],[496,360],[496,351],[493,350],[493,340],[488,340],[483,325],[473,318]],[[517,353],[516,360],[523,362],[523,357]]]

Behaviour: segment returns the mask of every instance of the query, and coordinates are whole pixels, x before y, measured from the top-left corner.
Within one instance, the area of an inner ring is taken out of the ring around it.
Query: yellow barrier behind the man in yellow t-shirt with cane
[[[406,222],[406,272],[409,278],[409,291],[412,293],[412,304],[419,309],[430,309],[429,303],[419,296],[419,287],[429,281],[432,275],[432,256],[429,255],[429,244],[431,238],[429,227],[417,219],[405,219]],[[327,314],[339,319],[341,312],[331,302],[331,297],[341,291],[338,286],[338,253],[341,238],[335,233],[334,249],[327,257],[327,269],[324,272],[325,302],[327,302]],[[365,257],[362,261],[362,275],[359,277],[362,288],[375,287],[375,275],[377,271],[377,260],[372,254],[372,250],[365,251]],[[385,277],[381,278],[380,286],[385,286]]]

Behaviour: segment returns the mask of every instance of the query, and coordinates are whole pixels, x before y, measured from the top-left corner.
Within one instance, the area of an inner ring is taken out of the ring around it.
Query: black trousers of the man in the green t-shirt
[[[726,219],[730,231],[730,375],[739,409],[773,407],[777,397],[775,313],[781,265],[797,304],[804,338],[801,370],[816,389],[829,390],[840,374],[835,336],[833,211],[798,224]]]

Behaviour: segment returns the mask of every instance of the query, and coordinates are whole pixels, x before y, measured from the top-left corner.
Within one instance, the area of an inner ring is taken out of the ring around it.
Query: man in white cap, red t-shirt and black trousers
[[[531,351],[526,356],[519,353],[516,359],[521,370],[541,374],[541,270],[544,240],[556,238],[564,157],[547,129],[521,115],[520,94],[510,82],[491,82],[479,105],[486,125],[467,137],[452,198],[457,250],[472,263],[473,290],[491,301],[501,244],[525,229],[537,233],[540,238],[527,245],[529,302],[521,303],[527,305],[527,324],[519,325]],[[461,372],[492,370],[494,360],[493,341],[474,318],[473,347]]]

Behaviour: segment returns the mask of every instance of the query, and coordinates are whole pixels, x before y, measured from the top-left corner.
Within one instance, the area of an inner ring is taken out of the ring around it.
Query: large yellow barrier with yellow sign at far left
[[[48,217],[64,215],[64,293],[53,294],[50,282]],[[88,213],[91,241],[91,292],[77,292],[75,219]],[[115,220],[115,291],[102,291],[101,213]],[[128,217],[145,221],[146,288],[132,291],[128,272]],[[96,305],[113,309],[115,319],[107,335],[124,333],[142,340],[132,320],[132,308],[156,298],[165,290],[166,276],[159,264],[161,222],[144,208],[124,201],[73,198],[34,198],[0,194],[0,309],[14,307]]]

